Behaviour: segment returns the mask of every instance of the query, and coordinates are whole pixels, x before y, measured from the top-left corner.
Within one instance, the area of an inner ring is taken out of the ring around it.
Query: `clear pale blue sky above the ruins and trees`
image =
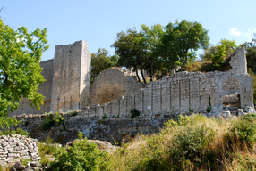
[[[140,30],[141,24],[198,21],[209,30],[211,44],[226,38],[240,45],[256,33],[255,0],[0,0],[0,6],[0,16],[11,28],[48,28],[50,48],[42,60],[54,57],[55,45],[79,40],[89,44],[90,53],[101,47],[114,54],[110,45],[116,34],[127,28]]]

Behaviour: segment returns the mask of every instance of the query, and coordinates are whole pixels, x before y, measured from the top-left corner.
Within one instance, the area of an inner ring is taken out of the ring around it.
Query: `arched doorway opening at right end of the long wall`
[[[223,107],[236,114],[240,108],[241,85],[234,77],[227,77],[222,84]]]

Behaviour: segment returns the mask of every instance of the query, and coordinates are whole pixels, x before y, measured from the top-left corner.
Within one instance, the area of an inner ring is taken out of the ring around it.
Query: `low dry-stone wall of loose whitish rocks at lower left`
[[[20,159],[38,161],[38,140],[19,134],[2,135],[0,137],[0,165],[12,164]]]

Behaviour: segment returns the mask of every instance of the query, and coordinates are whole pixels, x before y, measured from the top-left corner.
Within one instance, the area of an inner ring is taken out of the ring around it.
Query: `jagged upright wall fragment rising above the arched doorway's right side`
[[[235,74],[247,74],[247,61],[244,47],[237,47],[235,49],[235,52],[231,55],[231,61],[229,64],[231,69],[229,69],[228,72]]]

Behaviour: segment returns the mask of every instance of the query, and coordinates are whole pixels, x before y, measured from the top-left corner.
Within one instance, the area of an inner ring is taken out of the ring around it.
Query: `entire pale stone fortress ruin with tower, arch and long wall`
[[[85,41],[55,46],[55,58],[40,62],[46,82],[38,85],[38,92],[45,96],[44,105],[36,110],[22,98],[10,116],[69,110],[81,110],[85,118],[130,118],[133,109],[144,118],[175,117],[182,112],[214,116],[254,112],[252,77],[243,47],[232,54],[227,72],[184,71],[147,85],[120,68],[102,71],[90,84],[90,61]]]

